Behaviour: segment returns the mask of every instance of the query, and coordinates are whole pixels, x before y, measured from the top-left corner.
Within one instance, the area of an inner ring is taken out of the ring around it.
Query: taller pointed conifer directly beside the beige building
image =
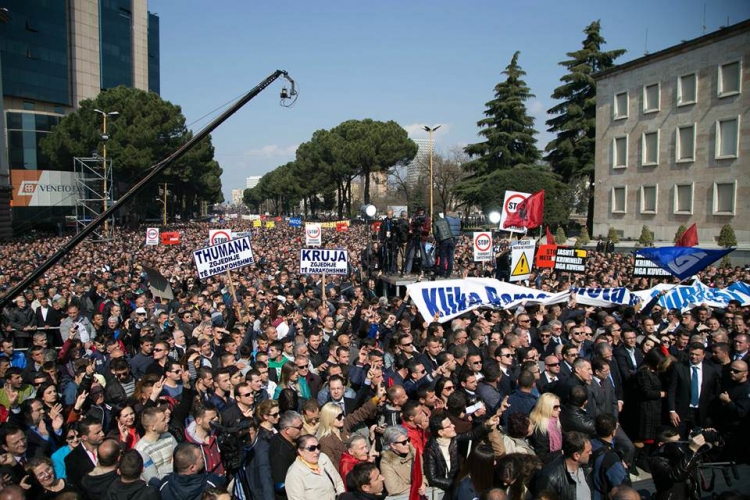
[[[594,153],[596,145],[596,81],[594,74],[611,68],[615,59],[625,53],[623,49],[603,51],[606,43],[601,35],[601,23],[594,21],[583,33],[586,38],[583,46],[575,52],[568,52],[568,59],[560,65],[568,73],[560,78],[562,85],[552,93],[552,98],[561,102],[550,108],[555,115],[547,120],[548,131],[557,134],[545,148],[547,160],[552,169],[562,176],[565,182],[581,177],[594,183]],[[594,199],[589,194],[589,230],[593,230]]]

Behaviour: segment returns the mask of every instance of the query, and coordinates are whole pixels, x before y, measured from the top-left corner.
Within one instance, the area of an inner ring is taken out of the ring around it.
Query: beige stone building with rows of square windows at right
[[[593,234],[750,242],[750,21],[596,75]]]

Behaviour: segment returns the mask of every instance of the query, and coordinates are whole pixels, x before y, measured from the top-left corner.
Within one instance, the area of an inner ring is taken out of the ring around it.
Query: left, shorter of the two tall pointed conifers
[[[541,158],[534,137],[534,119],[524,104],[534,95],[522,80],[526,72],[518,65],[519,54],[513,54],[503,71],[506,80],[495,86],[495,98],[486,104],[486,118],[477,122],[479,135],[485,141],[466,146],[466,153],[476,158],[464,168],[475,178],[496,170],[532,166]]]

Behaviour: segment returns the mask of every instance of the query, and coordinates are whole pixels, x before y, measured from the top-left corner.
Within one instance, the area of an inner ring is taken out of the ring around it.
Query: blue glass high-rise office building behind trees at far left
[[[69,197],[61,201],[30,193],[69,192],[65,183],[75,182],[73,166],[51,164],[39,144],[81,100],[119,85],[159,92],[159,17],[148,12],[147,2],[2,2],[7,12],[0,18],[0,134],[5,138],[0,141],[0,234],[9,204],[14,225],[42,209],[72,209]]]

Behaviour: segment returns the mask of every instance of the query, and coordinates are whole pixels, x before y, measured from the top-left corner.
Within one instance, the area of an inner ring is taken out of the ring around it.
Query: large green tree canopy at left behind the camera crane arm
[[[107,158],[113,163],[115,184],[123,186],[119,194],[192,137],[179,106],[153,92],[115,87],[102,91],[96,99],[81,101],[79,109],[63,118],[42,140],[42,151],[53,165],[69,168],[75,157],[102,153],[103,118],[95,109],[119,113],[107,119]],[[159,182],[169,183],[177,198],[170,206],[184,207],[185,214],[190,214],[198,212],[201,201],[223,201],[221,173],[211,138],[207,137],[167,168]],[[139,195],[133,209],[141,213],[161,211],[153,198],[153,191]]]

